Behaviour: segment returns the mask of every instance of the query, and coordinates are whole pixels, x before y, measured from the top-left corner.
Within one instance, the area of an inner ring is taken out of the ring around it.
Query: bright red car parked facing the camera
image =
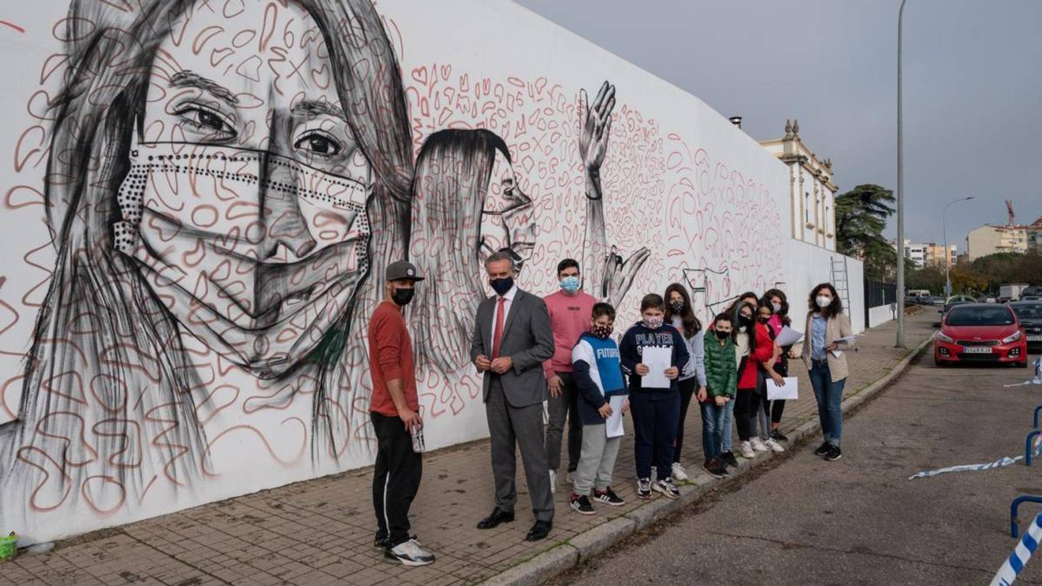
[[[1027,366],[1027,339],[1009,306],[966,303],[948,310],[934,335],[934,362]]]

